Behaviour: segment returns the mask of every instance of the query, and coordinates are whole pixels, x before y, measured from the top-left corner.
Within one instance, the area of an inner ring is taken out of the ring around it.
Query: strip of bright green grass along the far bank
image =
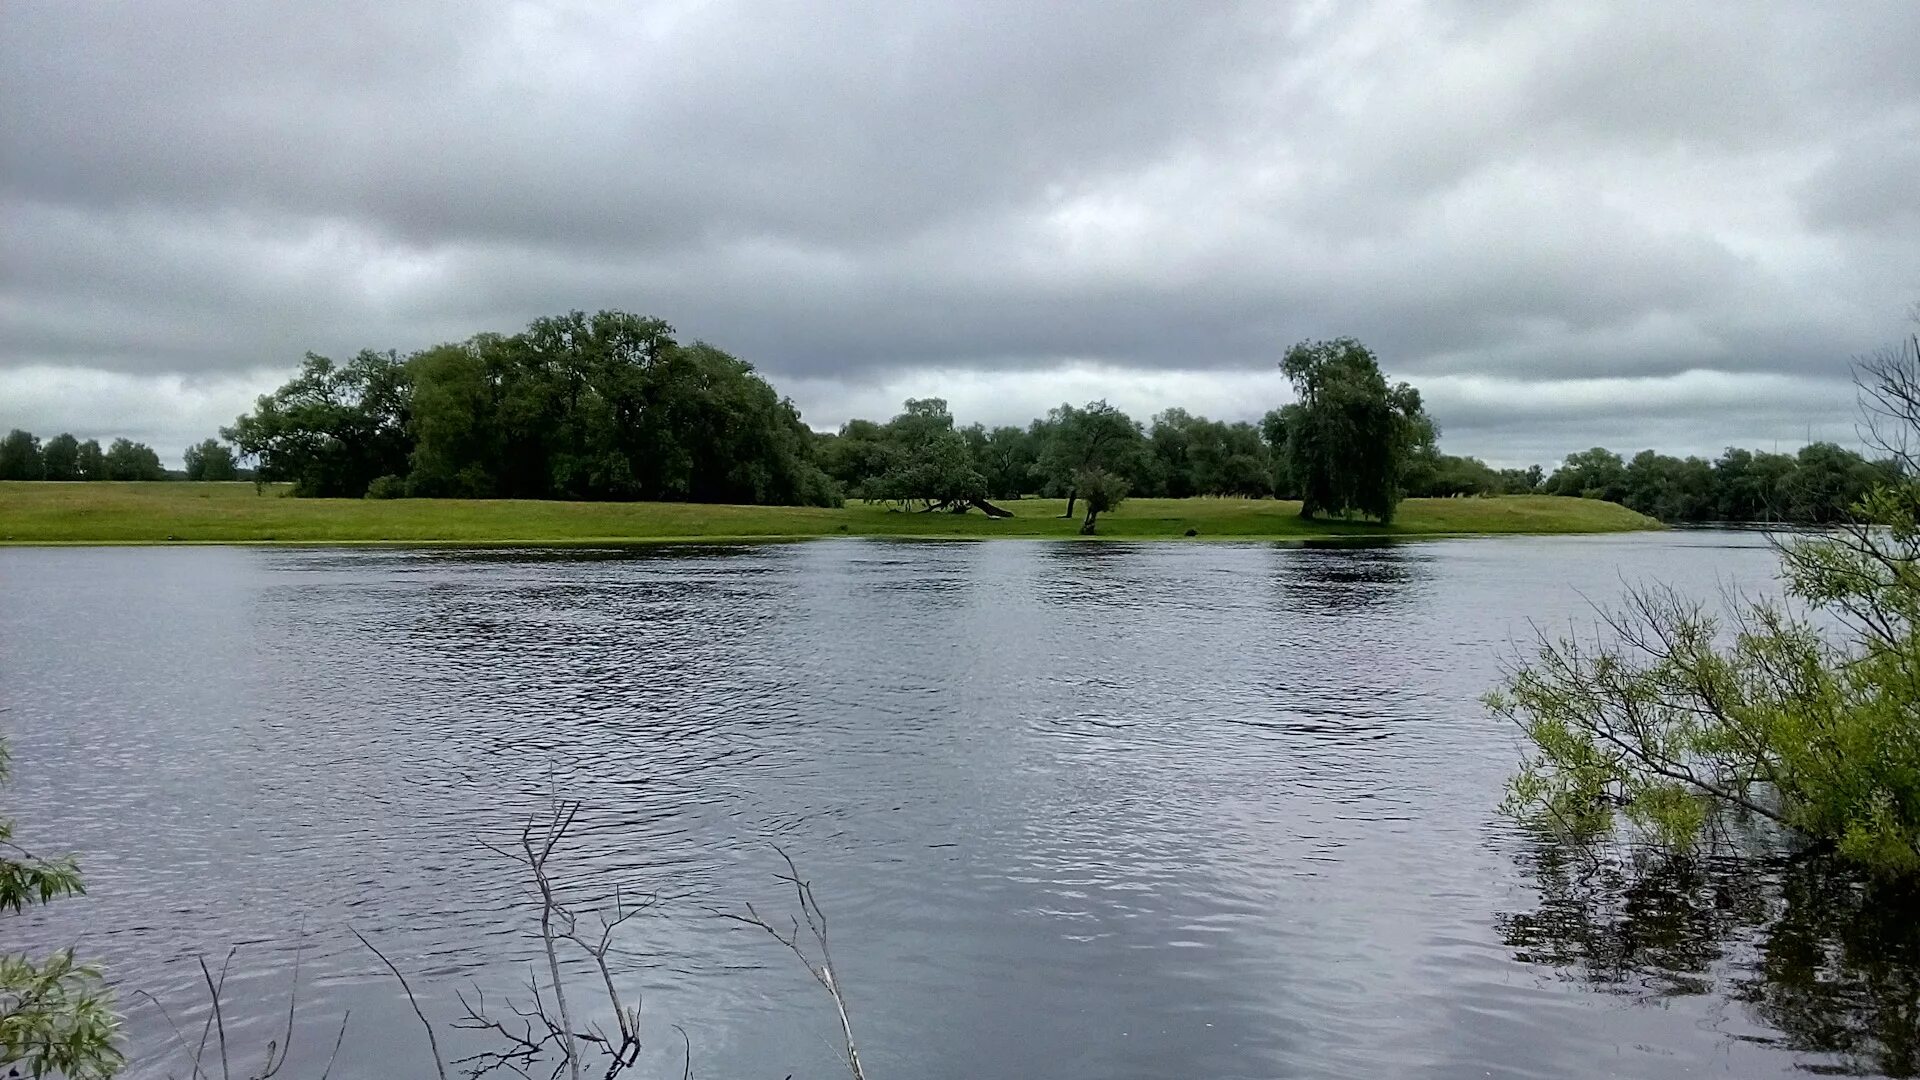
[[[979,511],[899,513],[699,503],[582,503],[526,500],[296,500],[253,484],[0,482],[0,544],[589,544],[636,540],[758,540],[797,536],[1029,536],[1073,538],[1062,500]],[[1473,532],[1624,532],[1659,528],[1624,507],[1553,496],[1407,500],[1392,527],[1302,521],[1275,500],[1129,500],[1100,515],[1108,540],[1306,540],[1321,536],[1438,536]]]

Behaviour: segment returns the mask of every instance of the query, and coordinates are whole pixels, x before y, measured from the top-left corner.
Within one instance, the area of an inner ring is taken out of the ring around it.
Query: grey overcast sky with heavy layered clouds
[[[814,427],[1853,442],[1920,300],[1920,4],[0,4],[0,429],[175,459],[307,350],[660,315]]]

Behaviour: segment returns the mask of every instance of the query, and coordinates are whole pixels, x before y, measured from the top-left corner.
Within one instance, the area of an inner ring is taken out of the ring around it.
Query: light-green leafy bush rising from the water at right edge
[[[1624,813],[1668,844],[1749,815],[1920,871],[1920,342],[1862,365],[1860,388],[1903,475],[1778,546],[1786,601],[1722,621],[1642,590],[1599,640],[1544,642],[1488,696],[1532,744],[1509,811],[1571,832]]]

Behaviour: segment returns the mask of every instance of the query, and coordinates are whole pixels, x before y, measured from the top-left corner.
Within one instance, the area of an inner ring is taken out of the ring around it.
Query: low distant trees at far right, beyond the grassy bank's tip
[[[1569,454],[1540,490],[1617,502],[1661,521],[1830,525],[1897,477],[1891,461],[1868,461],[1832,442],[1814,442],[1799,454],[1728,448],[1713,461],[1651,450],[1626,461],[1596,446]]]

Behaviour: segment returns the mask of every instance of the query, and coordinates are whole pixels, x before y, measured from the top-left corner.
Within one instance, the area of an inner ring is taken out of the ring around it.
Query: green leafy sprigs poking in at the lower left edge
[[[0,742],[0,780],[6,771],[6,744]],[[0,913],[17,915],[29,903],[81,892],[73,859],[42,859],[13,844],[13,822],[0,819]],[[111,995],[100,972],[81,965],[73,949],[48,957],[0,955],[0,1067],[25,1068],[27,1076],[111,1076],[125,1061],[115,1032]]]

